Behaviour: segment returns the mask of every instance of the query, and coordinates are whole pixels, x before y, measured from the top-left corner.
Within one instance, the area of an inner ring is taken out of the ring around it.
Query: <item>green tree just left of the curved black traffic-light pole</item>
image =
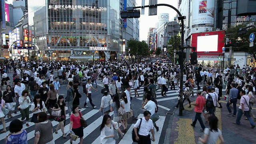
[[[168,40],[167,44],[172,45],[172,46],[167,47],[167,50],[168,50],[168,53],[169,53],[170,57],[172,57],[172,58],[174,57],[174,50],[176,50],[176,52],[178,52],[180,42],[181,42],[180,36],[174,36],[174,37],[171,37]]]

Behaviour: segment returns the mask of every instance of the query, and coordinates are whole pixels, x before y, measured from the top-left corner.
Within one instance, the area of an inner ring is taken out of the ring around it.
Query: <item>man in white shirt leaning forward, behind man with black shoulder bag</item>
[[[142,109],[148,110],[151,113],[151,116],[153,116],[155,114],[155,112],[157,111],[156,103],[151,100],[151,95],[148,94],[146,96],[146,100],[145,100],[144,104],[142,105]],[[156,122],[153,122],[153,123],[156,128],[156,131],[158,132],[159,127],[156,125]]]

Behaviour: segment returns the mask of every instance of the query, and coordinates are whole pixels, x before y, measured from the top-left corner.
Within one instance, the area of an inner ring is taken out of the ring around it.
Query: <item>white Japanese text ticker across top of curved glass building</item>
[[[104,7],[99,7],[99,8],[96,8],[95,6],[92,7],[92,6],[81,6],[81,5],[49,5],[48,6],[48,9],[61,9],[61,8],[70,8],[70,9],[83,9],[83,10],[86,10],[86,9],[89,9],[89,10],[104,10],[106,11],[107,8],[104,8]]]

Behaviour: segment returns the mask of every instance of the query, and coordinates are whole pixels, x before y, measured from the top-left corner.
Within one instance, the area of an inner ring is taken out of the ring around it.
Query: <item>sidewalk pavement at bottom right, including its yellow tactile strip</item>
[[[194,102],[196,98],[191,97],[190,100]],[[240,105],[240,100],[237,102],[237,109]],[[245,116],[241,118],[241,125],[233,124],[236,122],[236,117],[227,116],[228,110],[226,108],[226,100],[221,98],[223,108],[217,108],[215,115],[218,117],[218,128],[222,131],[225,144],[256,144],[256,128],[252,129],[248,120],[244,120]],[[184,102],[183,116],[179,116],[179,108],[173,110],[174,115],[170,117],[168,128],[166,130],[165,144],[197,144],[198,138],[203,136],[203,132],[200,132],[201,126],[199,122],[196,122],[196,128],[193,128],[190,124],[194,121],[196,112],[194,112],[194,106],[188,108],[187,101]],[[232,112],[233,112],[233,108]],[[172,111],[172,110],[171,110]],[[254,104],[252,113],[256,115],[256,105]],[[202,116],[203,122],[205,122],[204,116]],[[255,121],[254,121],[255,122]],[[204,124],[206,128],[208,124]],[[217,143],[220,143],[218,140]]]

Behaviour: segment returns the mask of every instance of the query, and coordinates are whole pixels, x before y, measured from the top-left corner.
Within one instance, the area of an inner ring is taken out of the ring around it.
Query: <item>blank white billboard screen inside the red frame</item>
[[[217,52],[218,51],[218,35],[198,36],[197,52]]]

